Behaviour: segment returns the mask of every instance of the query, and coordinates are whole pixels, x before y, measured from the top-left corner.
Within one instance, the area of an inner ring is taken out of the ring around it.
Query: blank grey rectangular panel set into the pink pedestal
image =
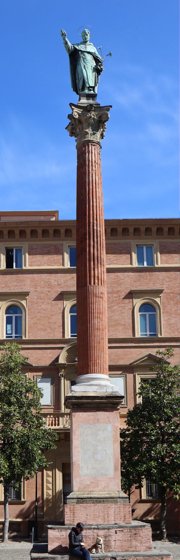
[[[112,424],[80,424],[80,474],[113,477]]]

